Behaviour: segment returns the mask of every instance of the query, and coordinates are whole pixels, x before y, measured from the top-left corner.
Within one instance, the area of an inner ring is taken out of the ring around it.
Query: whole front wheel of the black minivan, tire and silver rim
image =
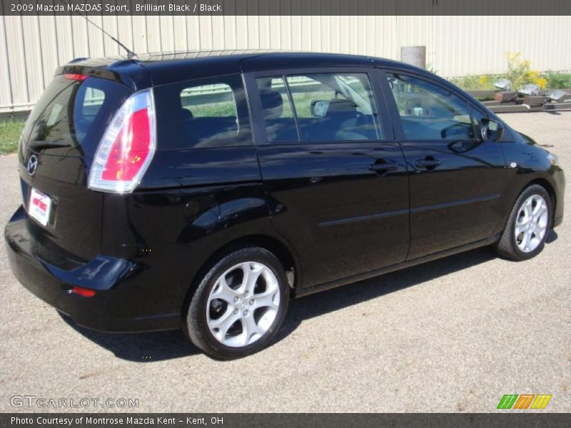
[[[552,201],[542,186],[525,188],[507,219],[496,253],[510,260],[528,260],[543,250],[551,229]]]

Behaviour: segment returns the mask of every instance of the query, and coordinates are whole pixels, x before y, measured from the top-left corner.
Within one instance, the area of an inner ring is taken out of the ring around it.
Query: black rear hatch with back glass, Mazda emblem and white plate
[[[87,180],[98,143],[133,91],[105,78],[54,78],[31,112],[19,146],[19,169],[36,256],[62,268],[101,248],[103,193]]]

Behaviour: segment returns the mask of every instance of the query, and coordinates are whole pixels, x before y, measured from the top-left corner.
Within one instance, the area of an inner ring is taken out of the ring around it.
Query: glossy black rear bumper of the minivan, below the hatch
[[[153,285],[138,279],[138,272],[145,269],[137,263],[98,255],[72,270],[63,270],[37,256],[45,249],[29,233],[29,221],[23,207],[16,210],[4,230],[6,253],[16,278],[41,300],[94,330],[141,332],[181,326],[180,310],[165,311],[157,304],[150,289]],[[96,294],[77,295],[71,292],[74,286]]]

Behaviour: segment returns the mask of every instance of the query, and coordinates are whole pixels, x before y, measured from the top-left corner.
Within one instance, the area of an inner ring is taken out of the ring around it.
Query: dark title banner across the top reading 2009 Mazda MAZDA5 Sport
[[[1,0],[4,15],[571,15],[567,0]]]

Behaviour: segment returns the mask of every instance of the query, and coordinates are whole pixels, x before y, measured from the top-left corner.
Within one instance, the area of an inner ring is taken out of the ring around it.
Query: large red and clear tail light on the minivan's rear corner
[[[132,192],[141,182],[156,150],[153,91],[134,93],[107,127],[89,172],[89,188]]]

